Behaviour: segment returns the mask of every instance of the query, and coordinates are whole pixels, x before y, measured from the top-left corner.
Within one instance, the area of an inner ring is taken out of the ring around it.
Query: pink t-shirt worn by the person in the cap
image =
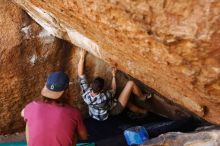
[[[71,146],[73,135],[85,128],[78,109],[40,101],[25,107],[24,119],[29,146]]]

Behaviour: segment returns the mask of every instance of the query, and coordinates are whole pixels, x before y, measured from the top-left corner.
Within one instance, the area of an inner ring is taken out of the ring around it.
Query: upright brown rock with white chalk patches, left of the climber
[[[63,41],[19,7],[0,0],[0,134],[24,127],[21,109],[39,96],[47,74],[64,68]]]

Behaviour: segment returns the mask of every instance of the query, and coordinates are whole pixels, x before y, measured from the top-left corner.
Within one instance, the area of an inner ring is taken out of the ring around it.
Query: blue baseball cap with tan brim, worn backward
[[[69,86],[69,77],[62,71],[52,72],[48,78],[41,94],[51,99],[58,99]]]

